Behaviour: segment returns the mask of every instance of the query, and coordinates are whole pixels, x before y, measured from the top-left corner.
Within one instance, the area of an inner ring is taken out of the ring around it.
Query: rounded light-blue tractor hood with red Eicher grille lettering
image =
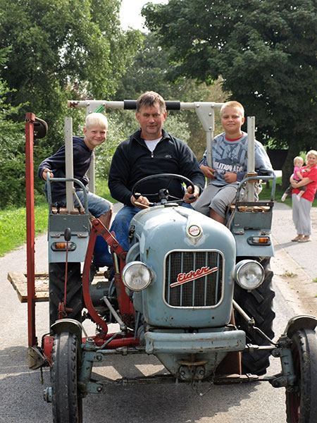
[[[223,326],[230,321],[235,240],[225,226],[193,209],[156,206],[130,223],[126,262],[140,261],[154,278],[134,293],[150,325]]]

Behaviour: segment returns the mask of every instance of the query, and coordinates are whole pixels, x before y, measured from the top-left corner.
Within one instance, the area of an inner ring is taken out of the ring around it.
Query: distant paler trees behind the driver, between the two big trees
[[[205,84],[199,85],[192,78],[178,78],[177,82],[171,82],[167,78],[168,53],[161,49],[158,36],[155,32],[143,34],[143,44],[140,45],[136,54],[132,57],[130,66],[120,78],[115,99],[137,99],[140,94],[147,90],[159,92],[166,100],[178,100],[180,102],[223,102],[224,94],[220,88],[220,82],[212,87]],[[119,112],[120,113],[120,112]],[[127,129],[132,133],[135,130],[135,118],[127,116],[123,112],[121,119],[128,121]],[[197,158],[200,158],[206,149],[206,134],[201,128],[194,111],[168,112],[168,119],[164,125],[170,133],[185,139],[192,148]],[[188,134],[182,133],[182,127],[187,128]],[[222,132],[218,122],[216,133]]]

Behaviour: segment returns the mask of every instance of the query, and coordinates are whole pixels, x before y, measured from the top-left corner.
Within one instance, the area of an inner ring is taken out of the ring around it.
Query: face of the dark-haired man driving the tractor
[[[161,137],[166,112],[162,113],[159,104],[142,106],[135,116],[137,116],[137,121],[141,126],[141,137],[144,140],[157,140]]]

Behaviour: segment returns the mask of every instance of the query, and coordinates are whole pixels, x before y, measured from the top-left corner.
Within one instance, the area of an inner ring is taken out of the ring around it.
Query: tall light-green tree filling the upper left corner
[[[119,8],[120,0],[0,0],[0,48],[11,48],[0,71],[8,102],[28,102],[19,118],[44,118],[54,128],[50,143],[63,132],[67,99],[115,92],[139,44],[138,31],[120,30]]]

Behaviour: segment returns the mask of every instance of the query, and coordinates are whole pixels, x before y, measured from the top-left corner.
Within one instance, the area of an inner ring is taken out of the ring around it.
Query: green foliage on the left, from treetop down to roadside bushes
[[[37,167],[63,145],[66,116],[82,135],[85,111],[68,109],[67,100],[115,92],[141,38],[120,29],[119,8],[120,0],[0,0],[0,208],[24,204],[25,113],[49,125],[34,144],[41,197]]]

